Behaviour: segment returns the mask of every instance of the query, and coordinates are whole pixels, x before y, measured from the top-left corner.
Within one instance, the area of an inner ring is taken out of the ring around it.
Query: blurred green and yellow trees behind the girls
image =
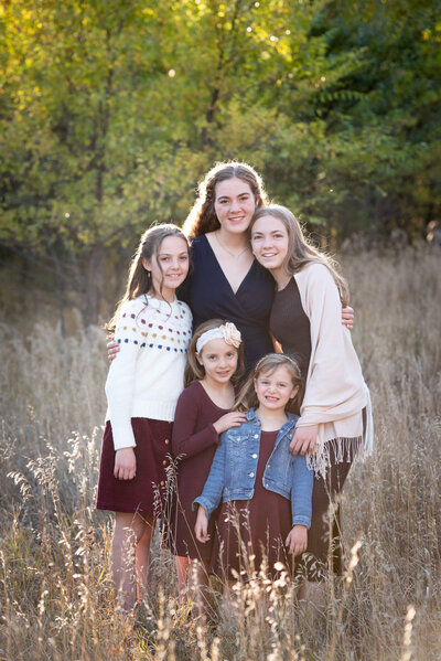
[[[423,235],[441,206],[440,6],[3,1],[1,260],[61,319],[75,305],[96,322],[139,234],[181,223],[229,158],[327,238]]]

